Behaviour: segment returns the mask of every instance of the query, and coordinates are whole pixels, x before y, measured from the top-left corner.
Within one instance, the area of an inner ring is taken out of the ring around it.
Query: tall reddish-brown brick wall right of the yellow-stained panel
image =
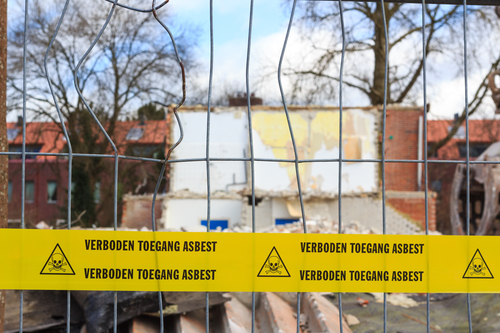
[[[386,121],[385,158],[418,158],[418,118],[423,109],[388,109]],[[416,163],[386,163],[388,191],[417,191]]]

